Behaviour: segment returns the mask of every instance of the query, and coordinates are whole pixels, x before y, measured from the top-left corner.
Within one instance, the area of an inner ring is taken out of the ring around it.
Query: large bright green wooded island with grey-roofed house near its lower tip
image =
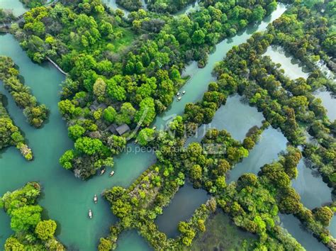
[[[75,149],[60,158],[62,166],[82,179],[112,166],[108,156],[136,136],[130,131],[148,127],[172,103],[186,82],[181,78],[186,63],[197,60],[204,67],[216,43],[275,8],[274,1],[218,2],[190,16],[140,9],[125,19],[121,11],[91,0],[28,11],[24,25],[12,26],[12,32],[35,62],[50,57],[68,73],[59,108],[69,130],[79,131],[69,133]],[[224,101],[215,92],[207,98],[211,107]],[[81,143],[95,145],[95,150],[88,152]]]

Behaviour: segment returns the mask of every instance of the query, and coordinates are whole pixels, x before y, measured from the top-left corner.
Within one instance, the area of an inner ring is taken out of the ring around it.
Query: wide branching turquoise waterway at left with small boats
[[[26,85],[32,89],[38,101],[50,108],[49,121],[36,130],[26,123],[21,109],[16,107],[1,83],[0,91],[6,94],[9,101],[6,108],[26,135],[35,158],[27,162],[15,147],[0,152],[0,194],[17,189],[26,182],[40,182],[44,192],[40,204],[47,215],[59,224],[58,238],[73,250],[95,250],[99,238],[108,233],[109,226],[116,218],[100,196],[99,203],[94,205],[94,194],[100,195],[111,186],[129,186],[155,162],[155,156],[147,152],[135,153],[135,145],[128,145],[131,152],[115,158],[113,168],[116,174],[112,178],[107,174],[87,182],[74,178],[72,172],[62,169],[58,163],[62,153],[73,147],[67,137],[65,122],[57,111],[57,94],[64,77],[52,65],[33,64],[12,35],[0,35],[0,55],[13,58]],[[87,218],[89,208],[94,213],[92,220]],[[9,217],[4,211],[0,211],[0,222],[0,247],[3,247],[6,238],[11,235]]]

